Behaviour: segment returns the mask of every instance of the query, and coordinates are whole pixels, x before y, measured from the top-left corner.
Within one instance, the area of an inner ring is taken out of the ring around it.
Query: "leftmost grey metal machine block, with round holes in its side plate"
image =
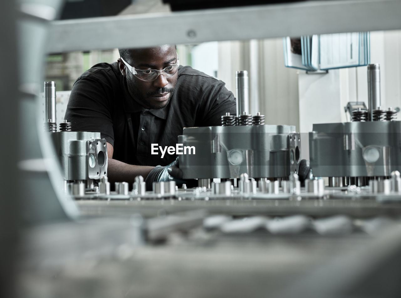
[[[64,180],[100,179],[107,176],[106,140],[99,132],[53,132]]]

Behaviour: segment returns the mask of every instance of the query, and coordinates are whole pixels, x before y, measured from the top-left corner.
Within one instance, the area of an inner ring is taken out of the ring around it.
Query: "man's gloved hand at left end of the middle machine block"
[[[152,190],[153,182],[162,181],[175,181],[177,185],[186,183],[187,185],[189,184],[188,187],[194,187],[197,185],[197,183],[194,183],[197,182],[196,180],[183,180],[182,175],[182,170],[178,167],[178,157],[167,166],[155,166],[145,179],[146,190]]]

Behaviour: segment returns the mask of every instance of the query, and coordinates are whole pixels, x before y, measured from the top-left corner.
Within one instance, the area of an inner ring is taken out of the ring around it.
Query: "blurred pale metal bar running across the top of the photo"
[[[306,1],[51,22],[47,52],[401,29],[401,0]]]

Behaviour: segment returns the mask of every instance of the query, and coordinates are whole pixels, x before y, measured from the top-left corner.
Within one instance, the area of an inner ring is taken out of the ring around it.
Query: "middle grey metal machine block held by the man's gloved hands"
[[[180,156],[184,178],[285,178],[297,172],[300,134],[295,126],[209,126],[184,128],[178,136],[193,153]],[[190,153],[190,152],[189,152]]]

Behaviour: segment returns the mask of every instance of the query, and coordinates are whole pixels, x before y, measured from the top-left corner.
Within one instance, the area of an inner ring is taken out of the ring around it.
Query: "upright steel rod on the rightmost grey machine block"
[[[381,106],[380,97],[380,65],[368,65],[368,104],[369,104],[369,120],[373,121],[373,110]]]

